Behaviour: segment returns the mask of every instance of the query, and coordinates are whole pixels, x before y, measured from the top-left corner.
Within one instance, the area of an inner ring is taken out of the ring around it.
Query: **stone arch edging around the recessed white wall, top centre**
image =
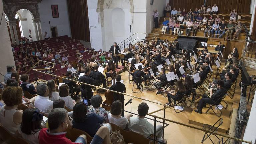
[[[97,3],[97,9],[96,11],[98,12],[98,22],[101,23],[101,27],[104,27],[104,1],[105,0],[98,0]],[[133,12],[133,0],[129,0],[130,1],[130,12]]]

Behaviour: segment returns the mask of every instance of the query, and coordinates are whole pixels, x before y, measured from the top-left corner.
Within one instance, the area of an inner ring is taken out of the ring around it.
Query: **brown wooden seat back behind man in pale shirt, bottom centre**
[[[124,141],[126,143],[134,143],[134,144],[151,144],[148,138],[145,138],[143,135],[135,133],[133,131],[123,130],[121,127],[111,124],[112,131],[120,130],[121,135],[124,137]]]

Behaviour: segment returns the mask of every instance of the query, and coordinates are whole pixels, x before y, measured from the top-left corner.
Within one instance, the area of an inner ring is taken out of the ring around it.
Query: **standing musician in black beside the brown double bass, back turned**
[[[121,92],[121,93],[126,93],[126,88],[125,85],[122,84],[121,82],[121,75],[116,75],[116,83],[113,84],[109,90],[114,90],[117,92]],[[107,91],[108,93],[109,91]],[[122,113],[121,116],[124,116],[124,95],[118,94],[118,93],[113,93],[114,96],[114,101],[116,100],[120,100],[122,102]]]

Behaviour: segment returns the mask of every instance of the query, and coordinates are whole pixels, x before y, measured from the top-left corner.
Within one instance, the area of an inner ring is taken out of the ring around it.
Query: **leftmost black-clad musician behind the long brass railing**
[[[67,72],[66,72],[66,78],[72,79],[72,78],[71,78],[71,75],[72,75],[72,72],[71,72],[71,71],[67,71]],[[76,95],[79,95],[79,93],[80,93],[80,87],[77,87],[77,84],[76,84],[74,81],[67,80],[67,79],[63,79],[63,82],[68,85],[68,89],[69,89],[69,92],[70,92],[70,93],[76,92]],[[78,99],[78,97],[76,97],[76,96],[73,97],[73,98]]]

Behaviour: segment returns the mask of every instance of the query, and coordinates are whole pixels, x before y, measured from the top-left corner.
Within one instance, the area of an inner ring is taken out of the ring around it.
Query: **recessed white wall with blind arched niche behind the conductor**
[[[131,36],[131,13],[129,0],[104,1],[105,47],[109,50],[113,42],[120,43]]]

